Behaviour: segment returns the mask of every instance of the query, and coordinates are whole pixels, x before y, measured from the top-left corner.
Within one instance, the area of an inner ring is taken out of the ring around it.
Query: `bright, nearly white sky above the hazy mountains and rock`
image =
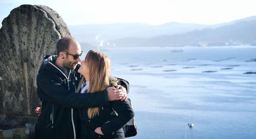
[[[220,24],[256,15],[255,0],[1,0],[0,20],[20,5],[45,5],[68,26],[140,22]]]

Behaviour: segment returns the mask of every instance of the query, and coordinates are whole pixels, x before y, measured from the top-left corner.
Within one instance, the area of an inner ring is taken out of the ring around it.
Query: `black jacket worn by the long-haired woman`
[[[81,109],[79,138],[124,138],[122,127],[134,117],[134,111],[128,101],[110,101],[110,105],[100,107],[99,115],[92,119],[88,118],[87,110]],[[94,132],[97,127],[101,127],[104,135]]]

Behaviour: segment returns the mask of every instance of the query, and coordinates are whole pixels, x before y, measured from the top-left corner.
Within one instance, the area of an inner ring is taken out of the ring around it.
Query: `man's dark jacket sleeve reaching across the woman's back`
[[[36,78],[37,94],[43,101],[58,103],[68,108],[88,108],[109,105],[106,90],[94,93],[75,93],[54,81],[50,76],[39,73]]]

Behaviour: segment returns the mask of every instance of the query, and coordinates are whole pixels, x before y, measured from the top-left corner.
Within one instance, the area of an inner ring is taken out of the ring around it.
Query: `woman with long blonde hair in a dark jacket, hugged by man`
[[[78,69],[83,76],[78,85],[80,92],[93,93],[116,86],[118,80],[110,76],[110,69],[110,59],[106,55],[90,50]],[[111,101],[109,106],[81,110],[82,124],[88,128],[88,138],[124,138],[122,127],[133,117],[129,102],[121,100]]]

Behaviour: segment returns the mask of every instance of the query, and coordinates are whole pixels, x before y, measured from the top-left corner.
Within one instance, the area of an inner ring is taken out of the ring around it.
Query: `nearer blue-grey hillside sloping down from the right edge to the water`
[[[184,45],[256,45],[256,20],[238,21],[216,29],[152,38],[121,38],[110,41],[117,47],[182,47]]]

